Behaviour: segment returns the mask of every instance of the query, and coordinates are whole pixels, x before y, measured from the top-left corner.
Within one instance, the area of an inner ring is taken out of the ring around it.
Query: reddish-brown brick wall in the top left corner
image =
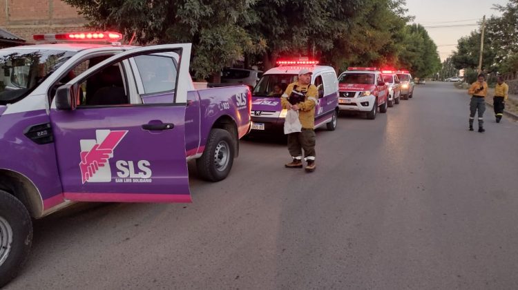
[[[61,0],[0,0],[0,27],[32,42],[32,35],[84,30],[77,10]]]

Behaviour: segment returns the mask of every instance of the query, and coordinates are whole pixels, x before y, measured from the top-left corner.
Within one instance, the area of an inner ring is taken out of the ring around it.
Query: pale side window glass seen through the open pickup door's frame
[[[134,59],[145,94],[175,90],[177,66],[173,58],[160,55],[140,55]]]

